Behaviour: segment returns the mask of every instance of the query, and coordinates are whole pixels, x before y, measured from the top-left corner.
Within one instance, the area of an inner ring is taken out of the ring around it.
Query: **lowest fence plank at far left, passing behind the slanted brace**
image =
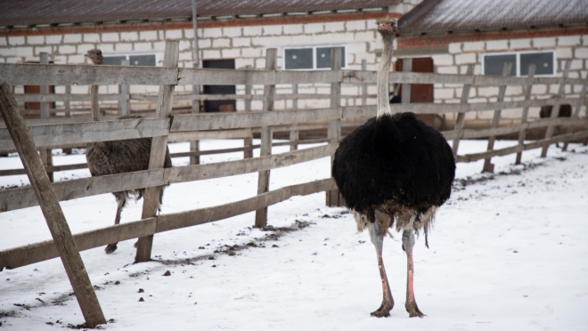
[[[141,221],[117,224],[106,228],[81,232],[73,236],[79,251],[109,245],[128,239],[139,238],[155,233],[155,217]],[[53,240],[15,247],[0,251],[0,270],[16,269],[25,265],[59,257]]]

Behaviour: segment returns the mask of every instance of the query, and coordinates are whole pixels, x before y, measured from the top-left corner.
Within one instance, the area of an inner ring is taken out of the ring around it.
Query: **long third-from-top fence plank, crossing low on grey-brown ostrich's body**
[[[74,198],[84,198],[122,190],[136,190],[174,182],[200,181],[230,175],[255,173],[316,158],[328,157],[335,149],[336,146],[323,145],[268,157],[82,178],[67,182],[55,182],[53,183],[53,190],[55,190],[55,194],[60,201],[67,201]],[[0,212],[29,206],[37,206],[37,199],[30,187],[0,190]]]

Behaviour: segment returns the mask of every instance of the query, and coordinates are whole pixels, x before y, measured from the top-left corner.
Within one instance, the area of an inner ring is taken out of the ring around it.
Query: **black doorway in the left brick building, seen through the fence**
[[[202,68],[210,69],[235,69],[235,61],[231,60],[204,60]],[[235,85],[203,85],[203,94],[236,94]],[[234,100],[207,100],[204,101],[204,111],[207,113],[231,112],[237,109]]]

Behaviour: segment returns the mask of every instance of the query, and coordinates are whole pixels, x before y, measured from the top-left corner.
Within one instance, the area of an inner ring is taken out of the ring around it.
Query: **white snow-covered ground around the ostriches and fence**
[[[241,143],[204,141],[203,149]],[[512,144],[497,141],[496,147]],[[485,148],[486,141],[462,141],[460,154]],[[170,149],[188,146],[176,143]],[[409,319],[404,311],[406,260],[398,235],[384,244],[396,307],[388,319],[370,317],[381,302],[375,251],[368,234],[356,232],[350,214],[325,207],[321,193],[269,207],[269,224],[300,230],[252,229],[249,213],[157,234],[154,262],[132,264],[135,240],[120,243],[114,254],[104,254],[103,247],[82,252],[104,315],[112,319],[102,327],[586,330],[588,148],[571,144],[569,149],[551,147],[547,158],[539,157],[540,149],[527,151],[525,165],[517,166],[514,155],[494,157],[494,175],[479,174],[482,161],[457,165],[453,195],[437,214],[430,249],[423,238],[415,246],[415,294],[428,315],[424,319]],[[203,161],[241,157],[232,153]],[[55,165],[85,159],[54,158]],[[174,160],[176,166],[187,162]],[[18,165],[18,157],[0,158],[0,169]],[[88,175],[78,170],[56,178]],[[270,189],[327,177],[329,159],[323,158],[272,171]],[[27,182],[26,176],[3,177],[0,186]],[[162,213],[249,198],[256,186],[257,174],[173,184]],[[140,219],[141,205],[130,203],[122,222]],[[116,211],[110,194],[61,206],[74,233],[110,225]],[[51,238],[38,206],[0,214],[0,229],[0,250]],[[219,250],[225,253],[214,253]],[[170,276],[164,276],[167,270]],[[60,259],[0,271],[0,330],[54,330],[83,322]]]

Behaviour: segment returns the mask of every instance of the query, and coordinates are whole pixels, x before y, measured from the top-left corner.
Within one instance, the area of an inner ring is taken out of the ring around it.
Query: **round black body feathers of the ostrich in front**
[[[373,117],[347,135],[332,176],[347,206],[374,222],[374,210],[434,214],[451,194],[455,161],[441,133],[413,113],[399,113]]]

